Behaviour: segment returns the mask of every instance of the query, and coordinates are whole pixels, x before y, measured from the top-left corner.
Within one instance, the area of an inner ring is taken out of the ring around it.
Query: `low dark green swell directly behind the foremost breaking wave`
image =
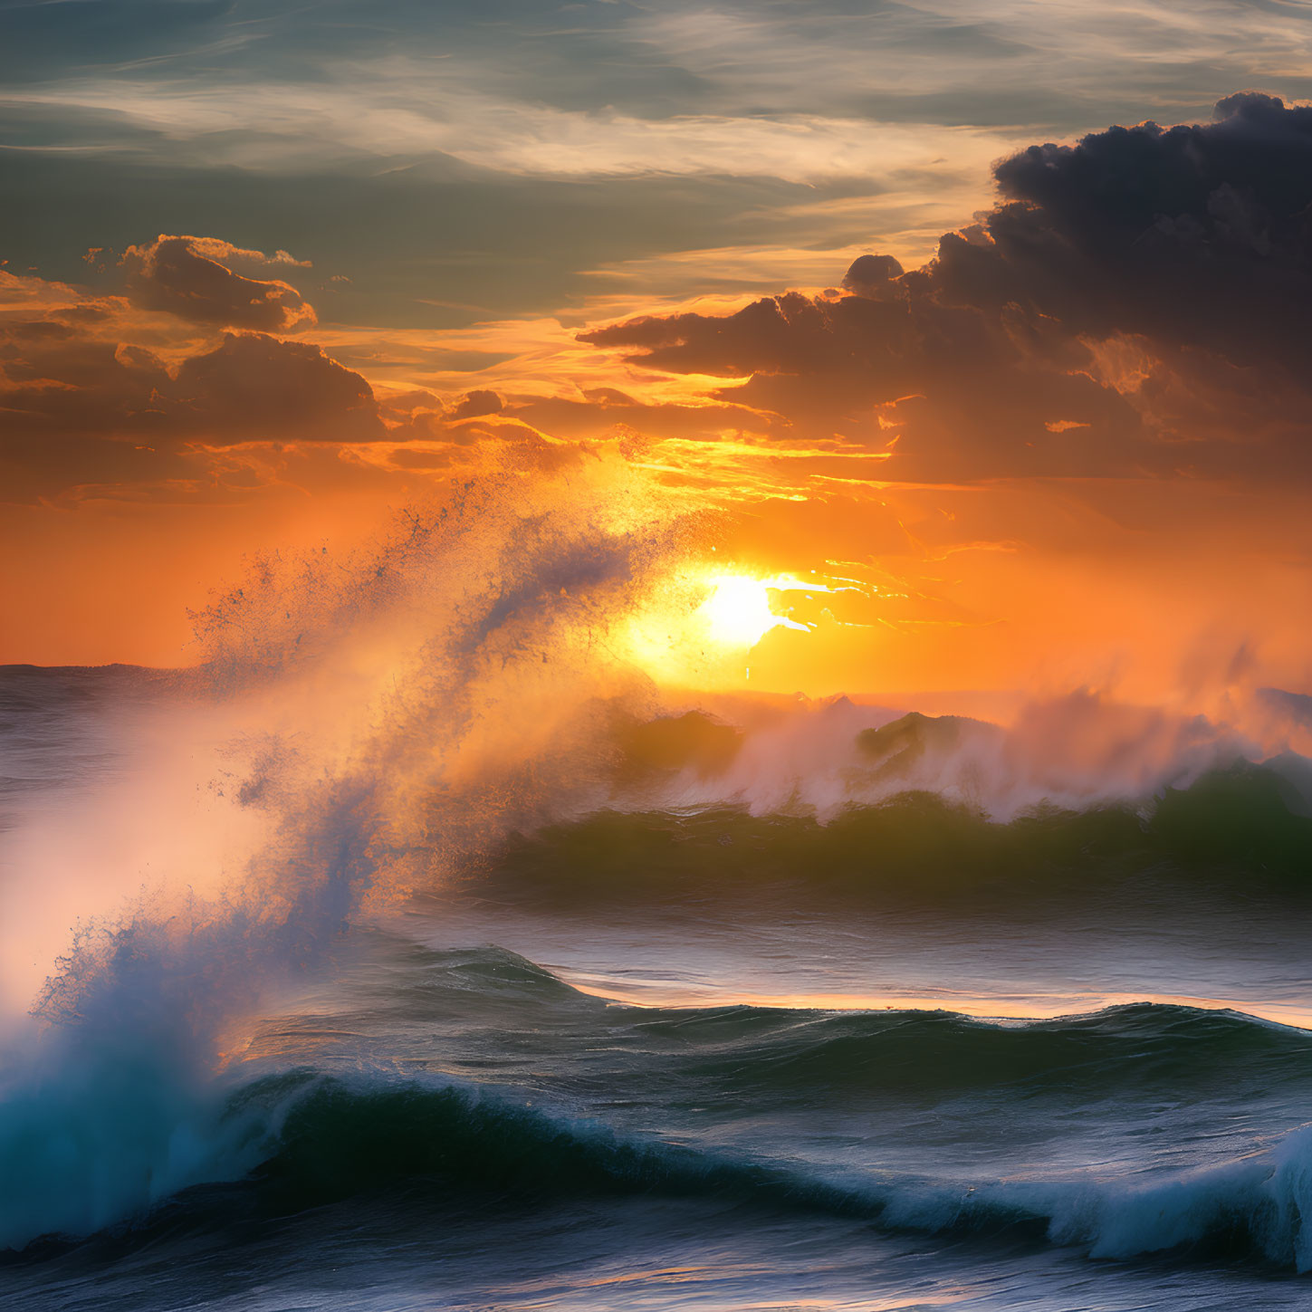
[[[1312,1033],[1215,1008],[1143,1001],[991,1019],[911,1008],[628,1006],[583,993],[504,949],[419,945],[390,959],[386,988],[362,988],[365,1009],[285,1018],[251,1055],[349,1059],[354,1035],[419,1025],[442,1034],[436,1061],[447,1075],[485,1069],[495,1057],[506,1078],[522,1075],[565,1093],[585,1078],[588,1089],[605,1082],[617,1098],[630,1082],[659,1097],[695,1082],[703,1094],[761,1110],[781,1099],[853,1103],[1017,1086],[1082,1105],[1136,1090],[1312,1099]]]

